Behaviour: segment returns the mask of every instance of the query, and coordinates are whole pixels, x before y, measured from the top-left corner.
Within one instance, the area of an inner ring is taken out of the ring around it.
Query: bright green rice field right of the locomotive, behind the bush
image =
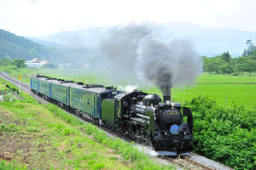
[[[156,88],[149,89],[150,92]],[[158,92],[160,94],[160,92]],[[172,88],[172,98],[175,102],[197,96],[215,98],[220,105],[241,104],[252,108],[256,105],[256,76],[209,75],[202,73],[194,85]]]

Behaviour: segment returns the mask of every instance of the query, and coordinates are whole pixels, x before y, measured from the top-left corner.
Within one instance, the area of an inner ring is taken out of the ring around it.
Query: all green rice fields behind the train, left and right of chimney
[[[136,80],[132,80],[132,78],[116,81],[113,76],[109,77],[106,71],[39,70],[36,72],[49,77],[64,78],[75,82],[114,86],[122,90],[125,90],[125,87],[130,85],[147,93],[159,94],[161,96],[160,89],[150,83],[137,82]],[[26,82],[29,82],[29,80],[27,79]],[[172,88],[172,99],[174,102],[183,103],[185,100],[193,99],[199,95],[215,98],[220,105],[243,103],[248,108],[253,108],[256,105],[256,73],[252,74],[252,76],[210,75],[208,73],[202,73],[195,80],[195,84]]]

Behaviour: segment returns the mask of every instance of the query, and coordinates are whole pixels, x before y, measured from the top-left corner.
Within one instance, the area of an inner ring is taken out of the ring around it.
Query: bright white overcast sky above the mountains
[[[256,31],[256,0],[0,0],[0,29],[42,37],[92,26],[183,20]]]

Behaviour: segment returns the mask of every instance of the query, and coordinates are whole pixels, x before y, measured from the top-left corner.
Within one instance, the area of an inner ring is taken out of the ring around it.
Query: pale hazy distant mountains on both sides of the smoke
[[[37,38],[71,48],[97,49],[102,35],[108,33],[113,27],[96,26],[79,31],[62,31],[51,36]],[[162,23],[158,27],[163,28],[161,31],[166,34],[168,39],[189,38],[195,43],[198,53],[207,56],[223,54],[226,51],[229,51],[232,57],[241,56],[244,48],[247,48],[248,39],[256,42],[256,31],[207,27],[184,21]]]

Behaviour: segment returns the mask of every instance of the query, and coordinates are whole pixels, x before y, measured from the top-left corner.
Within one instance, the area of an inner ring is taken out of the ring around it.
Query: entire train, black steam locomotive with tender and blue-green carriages
[[[31,77],[34,94],[108,127],[138,143],[152,144],[162,156],[189,155],[192,150],[193,116],[189,108],[164,101],[157,94],[65,81],[45,76]]]

